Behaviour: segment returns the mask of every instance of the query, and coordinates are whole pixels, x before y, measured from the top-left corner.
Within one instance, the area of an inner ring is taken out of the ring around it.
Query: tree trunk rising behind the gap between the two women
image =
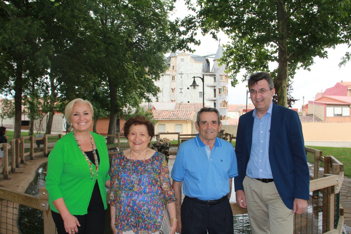
[[[110,121],[108,122],[107,134],[116,134],[116,121],[117,121],[117,93],[115,80],[108,79],[108,86],[110,88]],[[107,144],[114,143],[114,137],[107,138]]]

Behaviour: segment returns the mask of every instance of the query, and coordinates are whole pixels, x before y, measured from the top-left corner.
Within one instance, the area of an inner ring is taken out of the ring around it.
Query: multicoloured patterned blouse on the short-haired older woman
[[[123,152],[111,163],[109,202],[116,209],[117,233],[159,231],[164,204],[176,201],[165,156],[155,152],[147,160],[130,160]]]

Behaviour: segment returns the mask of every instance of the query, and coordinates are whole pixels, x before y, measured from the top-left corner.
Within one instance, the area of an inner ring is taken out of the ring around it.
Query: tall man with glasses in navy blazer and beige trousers
[[[270,75],[248,80],[255,106],[239,118],[235,153],[236,201],[247,208],[253,234],[293,233],[293,213],[302,214],[309,200],[309,168],[296,111],[272,102]]]

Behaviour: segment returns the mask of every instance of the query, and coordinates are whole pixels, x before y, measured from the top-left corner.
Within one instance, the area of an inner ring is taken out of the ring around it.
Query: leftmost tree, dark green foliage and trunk
[[[14,138],[21,136],[23,91],[31,78],[45,75],[48,68],[51,47],[43,39],[46,32],[40,3],[0,2],[0,87],[14,95]]]

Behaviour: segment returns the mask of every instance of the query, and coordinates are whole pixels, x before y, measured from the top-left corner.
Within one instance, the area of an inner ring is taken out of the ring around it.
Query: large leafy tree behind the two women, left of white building
[[[110,122],[115,134],[117,118],[124,107],[136,107],[159,91],[153,83],[166,71],[164,54],[172,45],[168,10],[171,1],[104,1],[94,9],[99,38],[91,66],[95,77],[108,82]],[[176,41],[175,41],[176,42]],[[112,143],[114,138],[108,138]]]

